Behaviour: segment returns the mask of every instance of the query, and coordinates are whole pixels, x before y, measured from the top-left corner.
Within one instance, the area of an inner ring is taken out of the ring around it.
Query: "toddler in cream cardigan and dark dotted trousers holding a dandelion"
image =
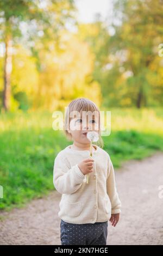
[[[98,133],[99,145],[91,144],[88,131]],[[58,153],[53,169],[55,189],[62,194],[58,213],[61,245],[106,245],[108,220],[116,226],[121,201],[110,156],[102,149],[96,104],[85,98],[73,100],[66,111],[65,132],[73,144]]]

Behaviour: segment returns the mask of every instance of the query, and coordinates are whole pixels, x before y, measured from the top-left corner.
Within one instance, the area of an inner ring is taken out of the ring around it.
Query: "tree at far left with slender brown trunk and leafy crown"
[[[50,37],[58,40],[58,31],[73,17],[73,0],[1,0],[0,36],[5,45],[3,107],[10,109],[12,47],[15,42],[40,40],[42,46]],[[23,29],[27,29],[26,36]]]

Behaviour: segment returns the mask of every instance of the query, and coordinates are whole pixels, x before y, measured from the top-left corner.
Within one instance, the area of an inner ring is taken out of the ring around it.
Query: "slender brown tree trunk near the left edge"
[[[3,107],[5,111],[8,111],[10,109],[11,71],[12,71],[12,38],[11,38],[11,35],[7,35],[5,38],[4,91],[3,91]]]

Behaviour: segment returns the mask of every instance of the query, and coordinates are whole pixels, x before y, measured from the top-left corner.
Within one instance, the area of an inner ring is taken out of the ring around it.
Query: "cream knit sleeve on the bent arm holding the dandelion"
[[[56,190],[61,194],[72,194],[82,186],[83,182],[85,182],[85,175],[78,164],[70,168],[66,159],[58,154],[53,168],[53,184]]]

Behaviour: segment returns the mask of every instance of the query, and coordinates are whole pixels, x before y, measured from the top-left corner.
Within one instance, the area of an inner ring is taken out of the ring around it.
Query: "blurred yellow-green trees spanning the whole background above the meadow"
[[[63,109],[79,96],[102,107],[162,106],[163,5],[159,0],[113,3],[108,26],[100,17],[78,23],[71,0],[1,1],[0,40],[6,43],[8,35],[14,46],[11,87],[16,84],[16,93],[27,95],[21,96],[21,109]],[[76,32],[67,24],[76,25]],[[3,70],[0,57],[1,92]]]

